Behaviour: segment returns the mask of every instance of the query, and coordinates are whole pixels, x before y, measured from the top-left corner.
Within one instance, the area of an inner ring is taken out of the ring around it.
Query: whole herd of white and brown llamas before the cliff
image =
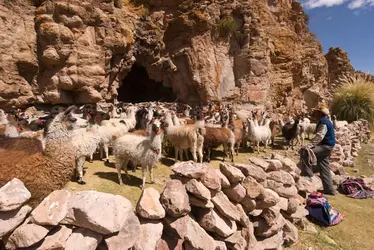
[[[332,118],[334,126],[345,126],[345,121]],[[231,105],[197,106],[177,104],[166,106],[120,104],[111,105],[109,112],[98,115],[95,107],[71,106],[55,109],[49,114],[44,128],[33,131],[22,127],[11,114],[0,110],[0,186],[13,178],[22,180],[38,202],[53,190],[62,188],[74,176],[83,180],[83,166],[99,150],[100,159],[109,161],[109,148],[113,148],[118,182],[121,170],[131,164],[142,170],[142,188],[146,173],[153,182],[153,167],[160,160],[165,147],[172,146],[175,161],[210,161],[213,149],[223,148],[223,161],[234,161],[240,147],[253,151],[264,150],[281,133],[288,148],[304,144],[305,137],[313,134],[316,124],[306,116],[272,119],[265,111],[242,113]],[[38,120],[40,122],[40,120]],[[25,124],[25,123],[23,123]],[[35,119],[26,124],[35,124]],[[31,127],[31,126],[30,126]],[[104,154],[105,153],[105,157]]]

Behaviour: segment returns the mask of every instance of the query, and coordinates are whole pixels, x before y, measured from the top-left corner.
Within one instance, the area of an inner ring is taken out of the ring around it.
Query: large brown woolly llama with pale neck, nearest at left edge
[[[87,121],[69,107],[58,114],[44,130],[45,149],[40,141],[29,138],[0,139],[0,186],[20,179],[32,194],[36,205],[46,195],[62,188],[75,170],[72,131],[87,126]]]

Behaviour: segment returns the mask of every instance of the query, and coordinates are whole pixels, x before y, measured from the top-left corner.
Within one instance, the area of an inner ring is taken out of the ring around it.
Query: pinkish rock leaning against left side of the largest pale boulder
[[[56,226],[68,213],[71,193],[55,190],[49,194],[31,213],[32,221],[39,225]]]

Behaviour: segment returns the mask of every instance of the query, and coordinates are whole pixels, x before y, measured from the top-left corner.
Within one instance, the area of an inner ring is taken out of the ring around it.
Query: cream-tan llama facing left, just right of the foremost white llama
[[[174,146],[175,162],[178,161],[178,154],[180,160],[183,161],[183,149],[190,149],[194,162],[197,162],[196,152],[198,152],[200,162],[202,162],[202,143],[199,144],[200,147],[198,148],[197,142],[199,137],[204,136],[205,128],[201,126],[200,123],[188,124],[177,127],[173,124],[171,113],[167,112],[165,114],[165,121],[163,123],[163,127],[165,129],[168,140]],[[202,140],[203,139],[200,138],[200,142]]]

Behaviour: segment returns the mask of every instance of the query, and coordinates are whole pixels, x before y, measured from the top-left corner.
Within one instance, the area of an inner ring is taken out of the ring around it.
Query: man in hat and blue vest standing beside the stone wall
[[[306,147],[310,148],[317,158],[317,169],[320,171],[324,193],[335,195],[329,161],[336,140],[334,127],[328,118],[329,113],[325,105],[313,109],[312,115],[318,121],[316,135]]]

